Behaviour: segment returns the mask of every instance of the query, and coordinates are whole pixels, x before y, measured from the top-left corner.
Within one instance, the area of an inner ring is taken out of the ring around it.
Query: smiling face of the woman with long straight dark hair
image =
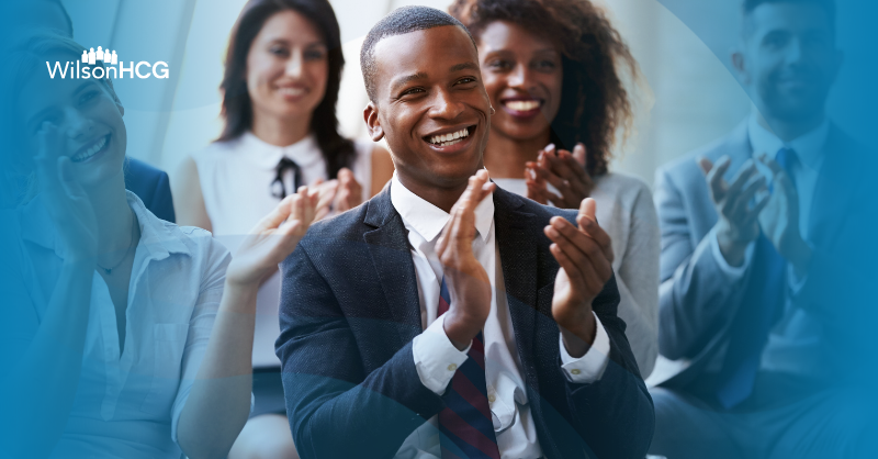
[[[247,55],[247,91],[257,116],[309,116],[326,93],[329,71],[319,30],[286,10],[266,21]]]

